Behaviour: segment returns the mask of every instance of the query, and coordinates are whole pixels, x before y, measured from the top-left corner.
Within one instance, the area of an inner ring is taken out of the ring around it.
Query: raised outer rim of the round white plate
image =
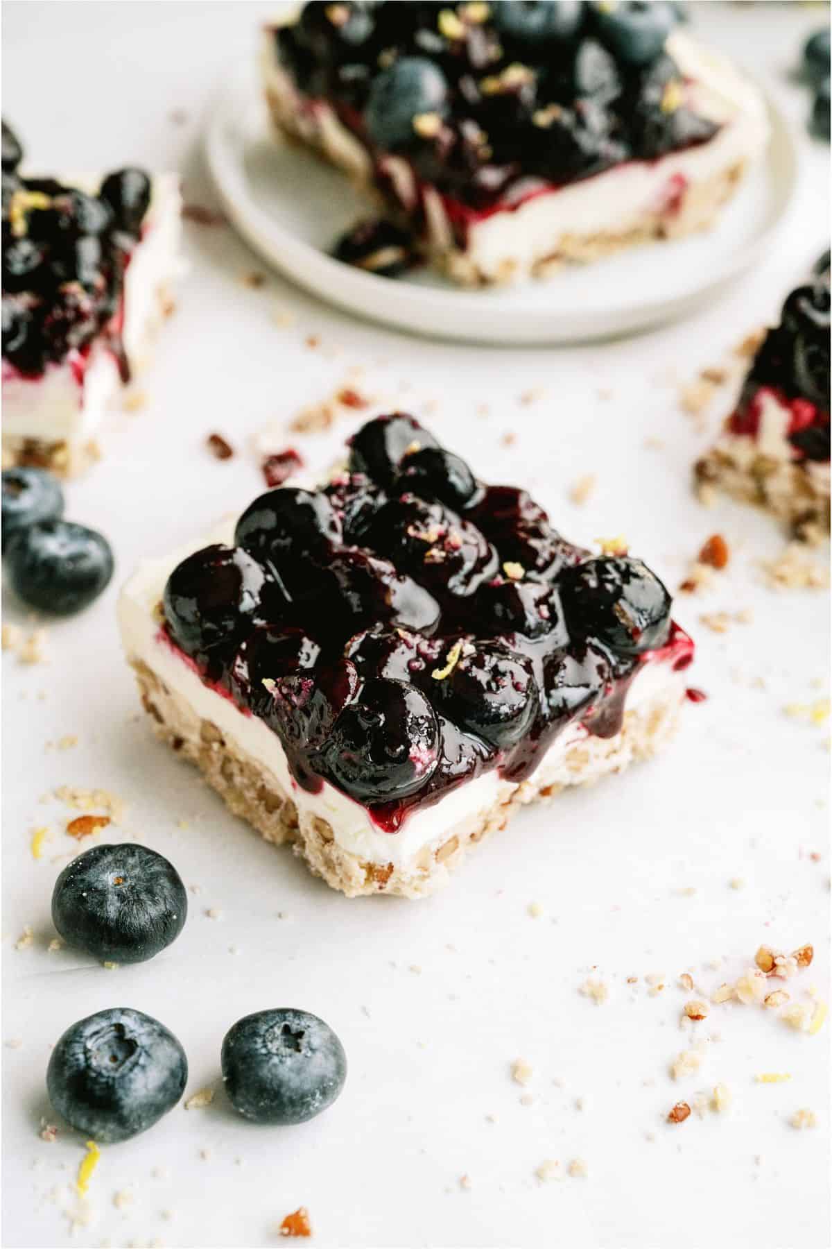
[[[504,325],[498,327],[495,323],[500,320],[499,309],[476,306],[478,291],[399,284],[349,269],[269,217],[247,192],[239,151],[231,156],[227,139],[228,124],[241,115],[238,107],[232,107],[235,102],[244,96],[247,107],[266,109],[248,60],[230,75],[212,101],[206,115],[202,147],[215,190],[237,232],[272,269],[326,304],[387,328],[445,342],[518,347],[609,340],[642,332],[660,321],[677,321],[691,315],[753,265],[763,247],[786,227],[795,210],[803,164],[796,125],[770,87],[743,66],[741,69],[761,92],[768,116],[771,134],[762,159],[771,167],[772,152],[778,145],[788,161],[787,185],[780,191],[772,220],[736,255],[726,257],[718,271],[701,286],[615,310],[600,322],[595,312],[566,317],[563,309],[548,315],[539,306],[513,307],[511,320],[516,322],[519,318],[521,323],[510,326],[506,333]],[[316,159],[312,152],[309,159]],[[596,322],[594,326],[581,320],[590,316]],[[531,320],[534,325],[529,323]]]

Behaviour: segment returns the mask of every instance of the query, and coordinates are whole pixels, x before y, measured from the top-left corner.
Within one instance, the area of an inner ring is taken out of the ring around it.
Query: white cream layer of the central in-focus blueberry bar
[[[231,542],[232,535],[233,522],[223,522],[200,547],[211,542]],[[370,863],[393,863],[398,868],[410,863],[425,848],[440,846],[454,832],[474,828],[498,802],[520,788],[503,781],[496,769],[491,769],[450,789],[434,806],[409,812],[397,833],[382,832],[364,807],[327,782],[318,793],[301,788],[289,772],[277,734],[263,721],[244,714],[230,698],[203,684],[193,668],[170,643],[158,637],[155,608],[168,575],[193,550],[198,547],[188,545],[161,560],[143,561],[123,587],[119,600],[119,627],[125,653],[130,659],[146,663],[195,716],[216,724],[228,742],[233,742],[273,777],[277,787],[291,793],[301,822],[313,817],[326,819],[336,842],[347,853]],[[627,692],[627,711],[644,708],[652,702],[680,702],[685,696],[685,672],[674,672],[667,662],[645,663]],[[529,799],[534,797],[538,786],[569,784],[575,781],[574,772],[565,766],[565,757],[578,742],[585,742],[588,748],[581,781],[595,779],[609,771],[600,752],[599,757],[594,757],[593,746],[597,743],[597,738],[591,738],[580,724],[573,724],[546,751],[535,771],[534,788],[526,787]]]

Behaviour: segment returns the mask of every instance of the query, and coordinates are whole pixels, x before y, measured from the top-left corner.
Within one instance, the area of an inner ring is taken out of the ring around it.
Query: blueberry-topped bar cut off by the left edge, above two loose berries
[[[27,177],[2,127],[2,463],[80,471],[178,272],[175,174]]]

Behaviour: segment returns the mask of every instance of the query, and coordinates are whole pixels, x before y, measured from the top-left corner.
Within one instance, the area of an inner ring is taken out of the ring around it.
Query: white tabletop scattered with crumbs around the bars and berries
[[[699,25],[765,74],[800,126],[808,96],[787,74],[825,11],[695,7],[707,10]],[[6,4],[4,114],[45,170],[178,169],[186,197],[210,202],[202,115],[268,12]],[[524,814],[438,897],[347,901],[259,842],[153,741],[119,649],[116,583],[81,618],[50,628],[49,666],[5,654],[7,1245],[269,1245],[301,1204],[313,1243],[327,1247],[828,1245],[828,1025],[802,1037],[770,1012],[713,1007],[696,1025],[711,1038],[701,1072],[677,1083],[667,1073],[689,1044],[677,1025],[684,969],[710,990],[748,965],[761,942],[808,940],[818,955],[797,998],[812,983],[827,993],[828,726],[783,713],[828,693],[827,596],[765,588],[758,560],[782,548],[777,526],[692,498],[690,465],[707,435],[676,403],[679,382],[773,317],[825,246],[828,149],[805,149],[795,229],[718,306],[637,340],[568,351],[450,347],[353,323],[277,279],[247,287],[257,262],[230,231],[186,226],[191,270],[142,381],[150,402],[115,415],[105,462],[67,490],[69,515],[112,540],[116,582],[141,555],[242,510],[262,488],[251,435],[279,427],[364,365],[373,386],[400,390],[400,405],[433,401],[433,427],[483,477],[530,485],[576,541],[625,533],[671,587],[704,538],[722,532],[730,568],[711,593],[676,605],[700,647],[692,682],[709,699],[687,708],[665,757]],[[294,313],[293,326],[277,325],[278,307]],[[318,347],[306,345],[309,335]],[[539,387],[536,402],[519,402]],[[478,416],[483,402],[489,415]],[[715,405],[711,432],[727,402]],[[329,442],[278,442],[324,465],[348,428]],[[232,461],[207,453],[212,431],[237,447]],[[516,441],[505,446],[509,431]],[[661,448],[646,447],[647,436]],[[580,508],[569,487],[588,472],[597,491]],[[701,612],[745,608],[752,623],[723,636],[699,622]],[[19,618],[11,603],[6,618]],[[79,746],[49,749],[62,734]],[[52,882],[76,844],[62,832],[74,813],[40,799],[62,783],[123,797],[117,836],[168,854],[198,887],[182,937],[153,962],[106,972],[46,952]],[[35,862],[30,834],[40,824],[51,841]],[[25,924],[34,942],[16,950]],[[601,1005],[578,992],[591,968],[610,989]],[[649,973],[664,973],[664,992],[650,995]],[[181,1038],[188,1093],[217,1078],[222,1037],[239,1015],[308,1008],[346,1045],[344,1094],[319,1119],[283,1130],[244,1124],[221,1089],[208,1109],[177,1107],[104,1150],[92,1223],[70,1240],[65,1208],[82,1144],[62,1125],[55,1144],[39,1139],[50,1113],[44,1072],[70,1023],[115,1004],[158,1017]],[[509,1074],[518,1058],[534,1070],[525,1089]],[[791,1080],[756,1083],[762,1072]],[[665,1123],[679,1098],[717,1080],[733,1093],[730,1115]],[[816,1130],[790,1127],[800,1107],[817,1113]],[[563,1170],[581,1158],[589,1174],[543,1184],[534,1172],[546,1158]],[[470,1188],[459,1184],[465,1174]],[[133,1203],[117,1209],[123,1190]]]

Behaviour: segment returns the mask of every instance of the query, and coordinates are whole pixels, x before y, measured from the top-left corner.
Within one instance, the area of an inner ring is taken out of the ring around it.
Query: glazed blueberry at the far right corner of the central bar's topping
[[[569,631],[578,638],[595,637],[626,656],[667,641],[670,595],[641,560],[586,560],[564,570],[558,588]]]

